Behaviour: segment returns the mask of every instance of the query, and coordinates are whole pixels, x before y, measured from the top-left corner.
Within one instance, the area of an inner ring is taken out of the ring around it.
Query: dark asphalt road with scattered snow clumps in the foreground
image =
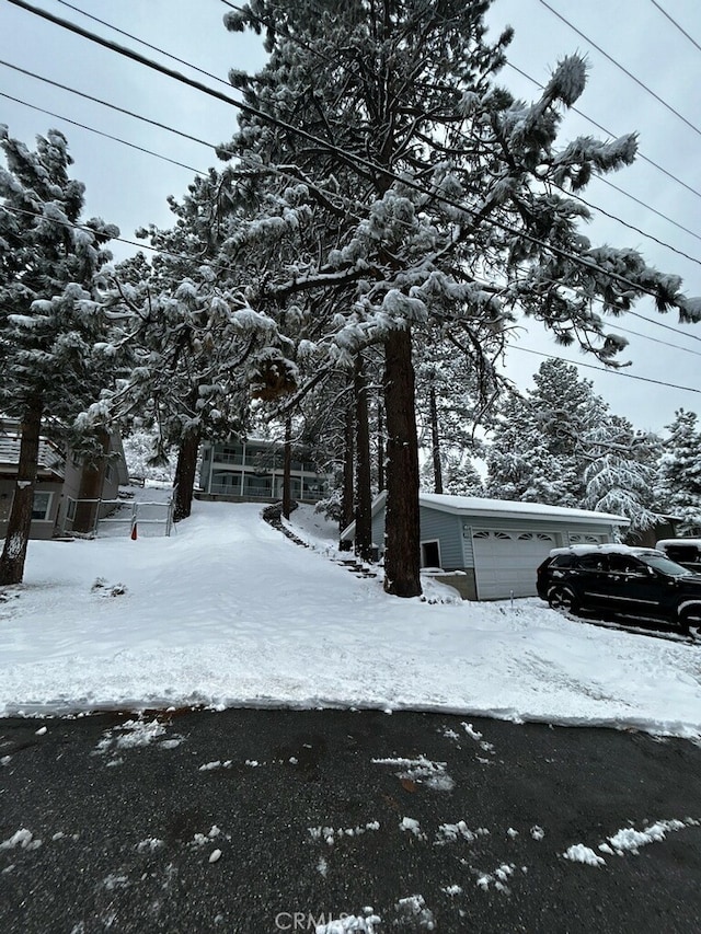
[[[0,932],[697,934],[699,821],[701,748],[644,734],[349,711],[7,719]]]

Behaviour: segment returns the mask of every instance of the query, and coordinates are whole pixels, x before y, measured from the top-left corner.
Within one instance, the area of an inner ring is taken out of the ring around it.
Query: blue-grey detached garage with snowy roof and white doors
[[[384,541],[382,492],[372,504],[372,540]],[[617,541],[624,516],[540,503],[422,493],[421,565],[467,600],[536,596],[536,569],[551,549]],[[353,541],[355,523],[341,535]],[[380,546],[380,553],[382,547]]]

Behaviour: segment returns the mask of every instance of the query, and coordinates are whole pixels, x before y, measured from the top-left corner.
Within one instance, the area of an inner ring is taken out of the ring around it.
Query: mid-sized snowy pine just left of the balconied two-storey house
[[[115,269],[106,299],[124,313],[124,341],[134,354],[112,411],[154,426],[161,459],[177,450],[175,521],[191,512],[200,440],[243,429],[252,388],[269,395],[275,380],[296,385],[275,322],[251,308],[241,286],[230,245],[241,200],[235,189],[230,173],[210,170],[181,200],[169,198],[173,228],[141,231],[158,251],[152,268],[139,282],[130,266]]]

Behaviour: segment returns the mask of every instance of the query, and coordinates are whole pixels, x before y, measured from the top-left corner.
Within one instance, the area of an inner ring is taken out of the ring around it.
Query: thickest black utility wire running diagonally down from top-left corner
[[[113,43],[110,39],[103,38],[102,36],[99,36],[94,33],[89,32],[88,30],[83,30],[81,26],[77,25],[76,23],[71,23],[67,20],[62,20],[60,16],[55,16],[53,13],[49,13],[46,10],[41,10],[41,9],[35,8],[35,7],[32,7],[30,3],[26,3],[25,0],[8,0],[8,2],[12,3],[14,7],[20,7],[21,9],[27,11],[28,13],[33,13],[34,15],[41,16],[42,19],[45,19],[45,20],[47,20],[47,21],[49,21],[49,22],[51,22],[58,26],[61,26],[62,28],[66,28],[69,32],[74,33],[76,35],[80,35],[83,38],[89,39],[90,42],[93,42],[97,45],[101,45],[104,48],[108,48],[112,51],[116,51],[118,55],[125,56],[126,58],[130,58],[133,61],[136,61],[140,65],[143,65],[145,67],[147,67],[153,71],[159,71],[160,73],[165,74],[170,78],[173,78],[174,80],[180,81],[183,84],[187,84],[188,87],[194,88],[195,90],[198,90],[198,91],[207,94],[208,96],[211,96],[211,97],[215,97],[216,100],[222,101],[222,102],[229,104],[230,106],[233,106],[233,107],[240,109],[242,113],[249,114],[250,116],[254,116],[257,119],[262,119],[268,124],[272,124],[272,125],[278,127],[279,129],[284,129],[287,132],[294,134],[295,136],[298,136],[299,138],[304,139],[306,141],[313,143],[315,147],[321,147],[326,152],[332,152],[332,153],[341,157],[345,162],[349,162],[350,164],[355,164],[356,168],[361,165],[363,168],[369,169],[370,171],[379,173],[380,175],[383,175],[388,178],[391,178],[392,181],[401,182],[406,187],[409,187],[413,191],[420,192],[421,194],[430,194],[432,197],[434,197],[437,201],[449,205],[450,207],[456,208],[457,210],[464,211],[466,214],[469,214],[469,215],[471,214],[473,216],[475,215],[475,211],[471,210],[470,208],[467,208],[464,205],[461,205],[459,201],[456,201],[455,199],[449,198],[446,195],[440,194],[439,192],[427,193],[426,189],[422,185],[420,185],[417,182],[415,182],[414,180],[402,177],[402,176],[398,175],[397,173],[388,170],[387,168],[384,168],[382,165],[378,165],[377,163],[372,162],[372,160],[366,159],[363,155],[358,155],[357,153],[348,153],[345,150],[343,150],[341,147],[337,147],[334,143],[327,142],[326,140],[320,139],[319,137],[315,137],[312,134],[308,132],[307,130],[300,129],[299,127],[296,127],[292,124],[287,123],[286,120],[280,120],[276,117],[273,117],[269,114],[266,114],[263,111],[257,109],[256,107],[252,107],[250,104],[245,104],[241,101],[235,101],[234,99],[229,97],[227,94],[223,94],[223,93],[215,90],[214,88],[208,88],[206,84],[203,84],[200,81],[197,81],[197,80],[192,79],[192,78],[187,78],[184,74],[181,74],[180,72],[174,71],[173,69],[171,69],[164,65],[160,65],[159,62],[152,61],[151,59],[146,58],[145,56],[140,55],[139,53],[135,51],[134,49],[125,48],[124,46],[120,46],[117,43]],[[542,2],[542,0],[541,0],[541,2]],[[591,262],[588,262],[587,260],[583,260],[581,256],[577,256],[576,254],[571,253],[566,250],[562,250],[559,246],[554,246],[553,244],[549,244],[549,243],[540,240],[539,238],[533,237],[532,234],[529,234],[525,231],[516,230],[515,228],[509,227],[508,224],[503,223],[502,221],[494,220],[493,218],[485,219],[485,223],[489,223],[492,227],[495,227],[499,230],[503,230],[507,233],[510,233],[512,235],[519,237],[522,240],[528,241],[529,243],[533,243],[538,246],[541,246],[543,250],[547,250],[550,253],[553,253],[553,254],[561,256],[563,258],[570,260],[571,262],[577,264],[578,266],[582,266],[583,268],[589,269],[591,272],[601,273],[611,280],[622,282],[623,285],[627,285],[627,286],[634,288],[636,291],[640,291],[644,295],[652,296],[655,299],[657,298],[656,292],[652,291],[651,289],[646,289],[645,287],[641,286],[640,282],[634,282],[631,279],[628,279],[625,276],[622,276],[620,273],[616,273],[616,272],[612,272],[610,269],[604,269],[602,267],[598,266],[596,263],[591,263]]]

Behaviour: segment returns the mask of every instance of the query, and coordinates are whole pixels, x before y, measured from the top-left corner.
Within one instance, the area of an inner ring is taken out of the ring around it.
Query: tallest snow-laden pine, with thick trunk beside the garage
[[[652,292],[660,311],[699,312],[678,278],[579,233],[587,209],[562,188],[630,163],[635,139],[558,147],[585,62],[564,59],[539,100],[514,100],[493,83],[509,33],[486,44],[487,7],[256,0],[226,16],[231,30],[264,32],[269,53],[258,76],[231,74],[266,116],[249,111],[230,149],[298,173],[295,221],[306,199],[319,231],[292,274],[265,266],[258,298],[342,290],[336,345],[384,347],[386,588],[403,597],[421,593],[413,330],[451,321],[480,347],[520,309],[611,362],[624,342],[596,302],[619,314]],[[284,212],[277,222],[289,223]]]

